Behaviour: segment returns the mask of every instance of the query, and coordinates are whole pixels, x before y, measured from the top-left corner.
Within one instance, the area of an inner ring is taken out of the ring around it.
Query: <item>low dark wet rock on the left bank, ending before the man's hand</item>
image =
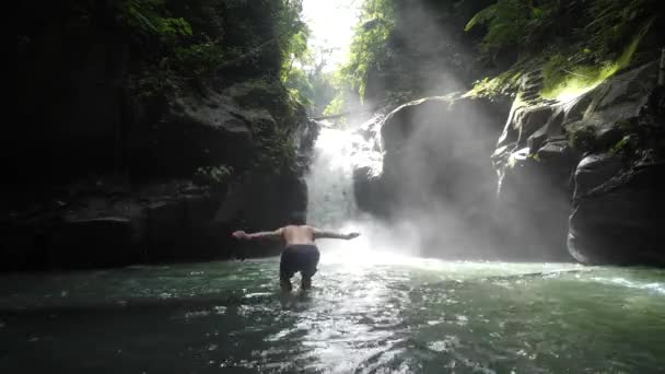
[[[68,188],[75,192],[60,203],[5,217],[0,224],[3,268],[107,268],[224,257],[208,235],[220,203],[209,188],[185,180],[117,187],[74,184]]]

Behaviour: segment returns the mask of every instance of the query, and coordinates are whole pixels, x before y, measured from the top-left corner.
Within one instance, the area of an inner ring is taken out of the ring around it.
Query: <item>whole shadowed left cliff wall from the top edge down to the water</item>
[[[241,50],[275,37],[273,4],[167,2],[196,31]],[[242,257],[233,230],[275,229],[304,213],[316,128],[284,100],[276,43],[202,84],[142,95],[128,79],[154,51],[137,49],[136,35],[94,4],[80,17],[79,5],[89,4],[21,5],[18,116],[2,149],[2,269]],[[213,11],[221,15],[201,13]],[[264,155],[280,133],[298,152],[276,166]],[[200,174],[220,166],[230,173]]]

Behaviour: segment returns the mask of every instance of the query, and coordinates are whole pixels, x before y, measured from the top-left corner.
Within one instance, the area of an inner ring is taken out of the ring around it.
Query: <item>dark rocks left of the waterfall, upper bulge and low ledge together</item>
[[[291,167],[259,170],[261,138],[276,131],[277,122],[266,106],[244,102],[248,92],[256,101],[273,94],[246,81],[203,96],[174,95],[163,116],[152,125],[143,118],[122,139],[130,177],[89,175],[33,188],[16,184],[9,191],[16,201],[3,207],[0,220],[2,268],[245,257],[230,232],[267,230],[305,215],[302,174],[316,125],[301,116],[293,126],[290,141],[298,159]],[[215,180],[197,173],[219,165],[229,165],[231,174]],[[248,255],[278,250],[259,245]]]

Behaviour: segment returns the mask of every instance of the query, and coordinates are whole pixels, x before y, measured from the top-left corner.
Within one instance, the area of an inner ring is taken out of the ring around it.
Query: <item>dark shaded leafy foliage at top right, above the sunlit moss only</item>
[[[591,0],[584,4],[497,0],[478,12],[465,31],[486,27],[480,44],[483,52],[504,48],[542,51],[563,37],[569,45],[573,42],[574,49],[584,51],[587,59],[598,62],[618,57],[635,31],[655,14],[656,3],[657,0]]]

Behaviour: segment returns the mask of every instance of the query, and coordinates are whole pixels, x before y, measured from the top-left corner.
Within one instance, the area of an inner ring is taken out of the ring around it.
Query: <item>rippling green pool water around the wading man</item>
[[[1,373],[657,373],[665,271],[323,253],[0,277]]]

